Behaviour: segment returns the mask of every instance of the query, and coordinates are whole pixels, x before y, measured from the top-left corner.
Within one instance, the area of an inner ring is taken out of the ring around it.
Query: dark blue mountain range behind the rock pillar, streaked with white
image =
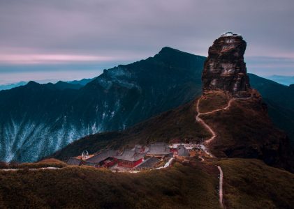
[[[0,160],[32,162],[96,132],[124,130],[190,102],[202,92],[205,57],[164,47],[89,81],[37,84],[0,92]],[[294,90],[256,75],[251,86],[272,121],[294,141]],[[89,82],[89,83],[88,83]]]

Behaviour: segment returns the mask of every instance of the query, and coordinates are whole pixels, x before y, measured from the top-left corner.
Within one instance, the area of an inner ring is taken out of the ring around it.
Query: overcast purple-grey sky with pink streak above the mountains
[[[0,0],[0,84],[95,77],[162,47],[247,41],[247,71],[294,75],[293,0]]]

